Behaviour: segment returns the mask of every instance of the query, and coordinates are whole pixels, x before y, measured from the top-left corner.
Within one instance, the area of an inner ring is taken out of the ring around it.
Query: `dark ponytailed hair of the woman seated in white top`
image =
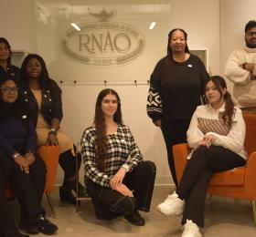
[[[221,98],[224,98],[225,101],[225,111],[222,115],[222,119],[224,121],[224,123],[226,123],[229,128],[231,128],[232,123],[233,123],[233,116],[234,116],[234,102],[229,94],[229,91],[227,90],[226,93],[223,95],[222,93],[222,89],[226,88],[227,89],[227,84],[226,81],[223,77],[220,76],[212,76],[208,78],[208,81],[206,82],[206,86],[208,84],[209,81],[212,81],[212,83],[214,84],[214,86],[217,88],[217,90],[219,91]]]

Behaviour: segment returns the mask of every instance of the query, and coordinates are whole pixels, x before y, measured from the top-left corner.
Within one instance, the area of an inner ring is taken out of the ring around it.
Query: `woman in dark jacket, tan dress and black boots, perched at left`
[[[60,201],[75,204],[76,199],[72,194],[72,191],[76,191],[77,177],[75,146],[69,135],[59,129],[63,117],[61,90],[48,76],[44,59],[34,54],[29,54],[22,63],[20,83],[30,118],[37,130],[37,147],[59,146],[59,165],[64,170],[63,185],[59,188]],[[81,159],[78,159],[80,167]],[[80,183],[79,196],[85,196]]]

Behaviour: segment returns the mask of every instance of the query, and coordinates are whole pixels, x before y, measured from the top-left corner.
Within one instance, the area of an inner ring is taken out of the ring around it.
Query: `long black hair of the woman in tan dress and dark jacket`
[[[30,59],[35,58],[39,61],[42,67],[42,73],[39,76],[38,84],[40,88],[48,88],[51,90],[52,94],[61,93],[61,89],[58,84],[48,76],[48,68],[42,57],[37,54],[29,54],[25,57],[22,66],[20,68],[20,84],[22,87],[29,88],[29,77],[27,75],[27,64]]]

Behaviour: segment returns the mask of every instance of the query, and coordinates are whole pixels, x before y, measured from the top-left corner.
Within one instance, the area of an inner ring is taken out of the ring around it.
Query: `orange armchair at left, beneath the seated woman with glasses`
[[[54,181],[59,163],[59,147],[42,146],[37,149],[37,152],[46,163],[47,175],[45,193],[48,199],[50,210],[52,211],[52,216],[53,218],[56,218],[49,192],[53,191],[54,189]],[[7,187],[5,189],[5,198],[9,199],[13,197],[15,197],[14,192],[9,187]]]

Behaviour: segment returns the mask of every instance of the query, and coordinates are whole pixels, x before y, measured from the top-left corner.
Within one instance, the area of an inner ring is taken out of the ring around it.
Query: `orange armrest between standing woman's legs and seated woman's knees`
[[[180,143],[173,146],[173,155],[176,167],[176,179],[179,182],[187,165],[187,156],[190,153],[187,143]]]

